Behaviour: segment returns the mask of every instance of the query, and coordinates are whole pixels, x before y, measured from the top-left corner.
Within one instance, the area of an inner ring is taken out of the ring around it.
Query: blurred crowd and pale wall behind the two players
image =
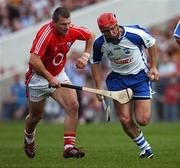
[[[152,122],[180,121],[180,46],[173,31],[180,20],[180,0],[0,0],[0,120],[24,120],[27,112],[24,74],[29,50],[38,29],[51,20],[54,9],[67,6],[72,23],[89,28],[98,36],[97,16],[115,13],[119,24],[138,24],[148,28],[158,46],[160,81],[153,83]],[[83,71],[74,67],[83,43],[77,42],[68,53],[66,71],[73,84],[94,87],[90,65]],[[105,79],[108,61],[102,62]],[[105,87],[105,84],[104,84]],[[80,123],[105,121],[105,113],[96,95],[78,92]],[[112,121],[116,121],[112,100]],[[47,99],[44,121],[63,122],[64,110]]]

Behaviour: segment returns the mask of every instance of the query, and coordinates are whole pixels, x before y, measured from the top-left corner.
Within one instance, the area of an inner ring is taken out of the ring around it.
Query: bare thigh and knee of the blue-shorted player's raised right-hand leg
[[[148,122],[151,116],[151,99],[135,100],[134,110],[137,121]]]

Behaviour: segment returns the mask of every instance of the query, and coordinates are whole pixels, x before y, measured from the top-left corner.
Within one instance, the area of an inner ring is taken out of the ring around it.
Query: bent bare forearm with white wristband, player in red
[[[76,61],[76,67],[78,69],[83,69],[90,58],[91,48],[93,45],[95,39],[95,34],[92,34],[91,37],[86,41],[84,52],[82,53],[82,56],[77,59]]]

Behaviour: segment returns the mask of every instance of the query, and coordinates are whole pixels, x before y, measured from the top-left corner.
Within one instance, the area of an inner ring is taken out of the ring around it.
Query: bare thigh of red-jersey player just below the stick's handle
[[[66,111],[79,107],[76,90],[74,89],[58,88],[51,93],[51,97],[61,104]]]

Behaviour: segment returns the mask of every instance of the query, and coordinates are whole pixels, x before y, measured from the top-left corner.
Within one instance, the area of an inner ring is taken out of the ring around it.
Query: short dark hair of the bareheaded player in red
[[[59,16],[62,16],[63,18],[69,18],[70,17],[70,11],[66,7],[58,7],[55,9],[52,20],[56,23],[59,20]]]

